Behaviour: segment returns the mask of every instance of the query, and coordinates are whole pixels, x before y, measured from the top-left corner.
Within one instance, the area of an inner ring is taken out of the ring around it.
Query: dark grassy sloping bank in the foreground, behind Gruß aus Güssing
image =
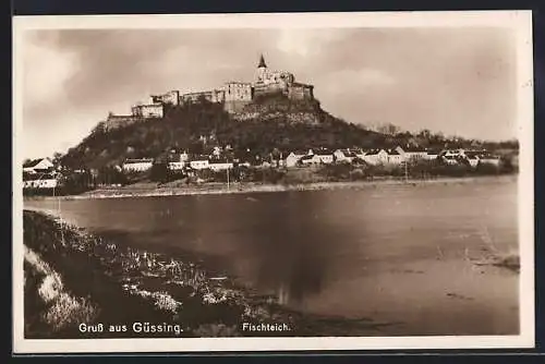
[[[380,336],[388,327],[302,315],[196,263],[121,246],[36,211],[24,211],[24,245],[27,338]],[[244,330],[244,323],[277,330]]]

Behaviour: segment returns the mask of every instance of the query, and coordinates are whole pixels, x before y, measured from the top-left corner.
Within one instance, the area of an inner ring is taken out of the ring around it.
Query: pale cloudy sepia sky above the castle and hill
[[[65,153],[109,111],[130,113],[150,94],[251,82],[261,53],[348,122],[517,136],[508,29],[48,29],[23,36],[24,157]]]

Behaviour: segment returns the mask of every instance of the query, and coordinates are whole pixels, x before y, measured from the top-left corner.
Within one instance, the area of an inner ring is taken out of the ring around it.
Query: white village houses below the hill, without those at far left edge
[[[499,157],[492,156],[486,150],[465,150],[465,149],[424,149],[419,147],[396,147],[396,148],[342,148],[335,151],[314,148],[308,150],[292,150],[288,154],[280,153],[278,159],[262,160],[255,158],[252,160],[240,160],[237,158],[222,157],[222,149],[216,147],[210,155],[192,156],[183,151],[178,154],[179,158],[169,161],[171,170],[203,170],[225,171],[233,168],[235,165],[245,167],[305,167],[316,165],[331,163],[352,163],[355,161],[371,166],[388,165],[401,166],[405,162],[417,160],[440,159],[446,165],[469,165],[476,167],[479,163],[499,165]],[[126,159],[122,165],[123,171],[143,172],[149,170],[154,165],[153,158]]]

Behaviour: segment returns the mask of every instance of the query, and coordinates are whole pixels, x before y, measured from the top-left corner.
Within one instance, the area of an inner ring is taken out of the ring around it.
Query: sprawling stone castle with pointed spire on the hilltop
[[[227,112],[235,113],[263,95],[281,94],[293,100],[312,100],[313,90],[314,86],[295,82],[294,75],[290,72],[268,69],[262,54],[252,83],[232,81],[211,90],[187,94],[171,90],[164,95],[152,95],[149,104],[133,106],[129,116],[110,113],[106,128],[116,129],[146,119],[162,118],[166,106],[183,106],[207,100],[221,104]]]

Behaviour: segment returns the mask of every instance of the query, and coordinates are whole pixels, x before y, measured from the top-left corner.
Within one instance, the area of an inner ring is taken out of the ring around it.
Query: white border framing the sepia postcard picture
[[[531,11],[70,15],[13,19],[13,351],[14,353],[223,352],[534,347],[533,59]],[[243,25],[243,26],[242,26]],[[518,37],[520,323],[518,336],[359,338],[25,339],[23,323],[22,33],[89,28],[511,27]]]

